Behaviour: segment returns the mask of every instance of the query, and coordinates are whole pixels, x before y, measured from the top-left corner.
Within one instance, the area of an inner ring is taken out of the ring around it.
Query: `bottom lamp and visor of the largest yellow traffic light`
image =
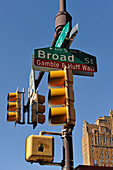
[[[49,124],[60,125],[67,122],[67,107],[50,108]]]

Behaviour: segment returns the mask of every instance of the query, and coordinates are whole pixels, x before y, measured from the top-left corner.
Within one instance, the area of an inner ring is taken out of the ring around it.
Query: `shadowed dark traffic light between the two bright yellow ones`
[[[37,123],[43,124],[45,122],[45,96],[37,94],[36,99],[32,102],[32,115],[31,121],[37,125]]]

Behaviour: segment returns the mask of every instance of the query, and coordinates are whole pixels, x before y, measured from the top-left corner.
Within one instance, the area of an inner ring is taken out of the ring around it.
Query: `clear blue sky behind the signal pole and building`
[[[48,124],[48,73],[39,85],[46,97],[46,122],[33,129],[27,123],[14,127],[7,122],[7,95],[17,87],[25,88],[28,100],[29,75],[34,49],[50,47],[55,33],[54,18],[59,0],[0,0],[0,168],[2,170],[61,169],[30,164],[25,160],[25,141],[42,130],[61,132],[62,126]],[[76,123],[73,130],[74,167],[82,165],[83,121],[94,123],[113,109],[113,0],[67,0],[66,10],[72,16],[72,27],[79,32],[70,49],[78,49],[97,59],[94,77],[74,75]],[[36,76],[38,76],[38,71]],[[37,78],[37,77],[36,77]],[[26,120],[27,121],[27,120]],[[54,162],[62,160],[62,139],[54,136]]]

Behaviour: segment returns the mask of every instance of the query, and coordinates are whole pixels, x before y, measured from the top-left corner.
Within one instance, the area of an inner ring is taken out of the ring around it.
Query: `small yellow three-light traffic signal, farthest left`
[[[19,122],[21,120],[21,93],[18,89],[15,93],[8,93],[7,121]]]

